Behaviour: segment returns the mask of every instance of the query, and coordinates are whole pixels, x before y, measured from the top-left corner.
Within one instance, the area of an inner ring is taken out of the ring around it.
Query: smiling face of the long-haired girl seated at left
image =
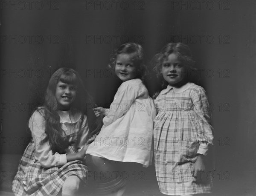
[[[70,110],[71,104],[76,98],[77,86],[73,84],[58,82],[55,92],[59,110]]]

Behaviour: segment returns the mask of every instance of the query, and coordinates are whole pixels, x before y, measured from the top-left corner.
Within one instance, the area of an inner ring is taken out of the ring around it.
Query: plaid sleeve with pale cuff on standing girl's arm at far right
[[[199,148],[198,154],[207,155],[208,147],[213,142],[213,128],[210,125],[211,114],[209,111],[209,103],[205,90],[200,87],[192,95],[192,101],[194,105],[194,111],[198,115],[198,141]]]

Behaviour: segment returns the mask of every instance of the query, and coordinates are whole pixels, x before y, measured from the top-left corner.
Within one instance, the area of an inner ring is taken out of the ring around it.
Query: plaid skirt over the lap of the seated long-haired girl
[[[73,147],[67,149],[73,153]],[[81,161],[70,161],[62,167],[44,168],[35,157],[35,143],[31,141],[21,158],[17,174],[12,183],[15,195],[57,195],[68,176],[76,175],[86,180],[87,166]]]

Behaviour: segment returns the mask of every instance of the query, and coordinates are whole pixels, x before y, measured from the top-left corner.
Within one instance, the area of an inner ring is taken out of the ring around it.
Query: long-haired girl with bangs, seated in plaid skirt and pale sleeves
[[[32,141],[13,181],[15,195],[57,195],[60,190],[61,195],[77,193],[87,172],[82,160],[87,144],[93,141],[83,108],[89,100],[76,71],[60,68],[54,72],[44,106],[29,119]]]

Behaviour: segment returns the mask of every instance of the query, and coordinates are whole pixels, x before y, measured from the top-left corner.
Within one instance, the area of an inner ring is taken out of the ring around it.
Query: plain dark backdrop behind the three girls
[[[255,193],[255,1],[1,1],[1,154],[22,154],[51,73],[79,71],[96,104],[118,87],[109,55],[128,41],[147,64],[168,42],[190,46],[215,129],[215,194]],[[150,92],[154,78],[147,82]]]

